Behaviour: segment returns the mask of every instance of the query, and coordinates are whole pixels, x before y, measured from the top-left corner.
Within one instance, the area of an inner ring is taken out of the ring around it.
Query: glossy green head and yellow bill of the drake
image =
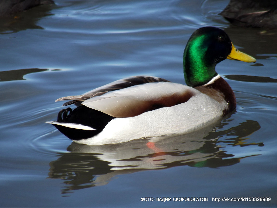
[[[186,84],[197,87],[208,83],[217,75],[216,64],[226,58],[245,62],[256,61],[253,57],[235,49],[223,30],[216,27],[199,28],[191,35],[184,50]]]

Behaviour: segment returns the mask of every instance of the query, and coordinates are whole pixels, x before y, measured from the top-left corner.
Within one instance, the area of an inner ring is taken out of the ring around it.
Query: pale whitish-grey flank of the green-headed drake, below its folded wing
[[[218,102],[194,88],[187,88],[194,96],[185,103],[134,117],[115,118],[99,134],[73,141],[88,145],[116,144],[133,139],[186,134],[216,123],[227,108],[225,100]]]

